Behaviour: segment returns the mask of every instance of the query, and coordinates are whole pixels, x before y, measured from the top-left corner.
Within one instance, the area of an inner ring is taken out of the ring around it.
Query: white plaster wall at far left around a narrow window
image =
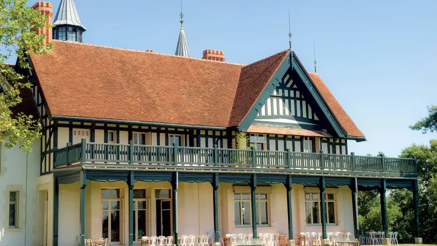
[[[33,151],[28,154],[18,146],[6,149],[1,144],[0,148],[0,246],[35,245],[40,140],[32,144]],[[8,223],[10,191],[18,191],[18,228],[15,229],[10,229]]]

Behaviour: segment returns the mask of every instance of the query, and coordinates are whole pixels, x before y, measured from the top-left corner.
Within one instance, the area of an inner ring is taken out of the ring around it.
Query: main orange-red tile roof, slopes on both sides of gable
[[[209,127],[239,125],[289,54],[245,66],[53,41],[52,52],[31,56],[52,115]],[[360,132],[316,81],[348,133]]]

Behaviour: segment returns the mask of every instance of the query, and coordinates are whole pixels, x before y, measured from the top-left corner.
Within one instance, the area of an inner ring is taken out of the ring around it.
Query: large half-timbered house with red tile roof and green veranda
[[[33,7],[54,15],[51,3]],[[176,55],[102,47],[82,43],[73,0],[61,1],[57,26],[42,30],[53,50],[20,71],[44,134],[27,179],[14,167],[25,156],[8,151],[9,164],[2,155],[3,211],[18,209],[9,226],[3,217],[0,245],[24,245],[12,242],[25,221],[26,245],[38,246],[208,231],[326,238],[357,233],[360,189],[409,188],[417,198],[415,160],[350,153],[348,140],[364,134],[291,49],[249,65],[208,49],[190,58],[182,17]],[[241,131],[246,149],[236,148]],[[31,189],[15,184],[26,180]],[[385,195],[381,204],[387,237]]]

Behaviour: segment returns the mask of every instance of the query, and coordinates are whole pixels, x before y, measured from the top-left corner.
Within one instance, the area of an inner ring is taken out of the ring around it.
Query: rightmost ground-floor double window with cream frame
[[[326,223],[336,224],[335,196],[325,194]],[[306,224],[320,224],[320,194],[305,193]]]

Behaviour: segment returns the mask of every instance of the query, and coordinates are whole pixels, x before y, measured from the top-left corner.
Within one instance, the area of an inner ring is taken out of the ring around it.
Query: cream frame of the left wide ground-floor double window
[[[239,195],[240,198],[239,199],[235,199],[235,195]],[[249,199],[243,199],[242,195],[248,195]],[[266,195],[266,199],[261,199],[260,195]],[[243,225],[243,214],[240,213],[240,225],[236,224],[236,221],[234,221],[234,225],[235,227],[251,227],[252,226],[252,222],[253,222],[253,218],[252,218],[252,198],[251,198],[251,194],[250,193],[234,193],[234,211],[235,211],[235,202],[238,202],[239,206],[240,206],[240,211],[243,210],[243,202],[248,202],[249,203],[249,217],[250,217],[250,224],[245,224]],[[268,193],[256,193],[255,194],[255,202],[257,203],[257,223],[256,226],[257,227],[270,227],[271,225],[271,220],[270,220],[270,194]],[[259,209],[261,207],[261,202],[266,202],[267,203],[267,224],[261,224],[261,210]],[[258,217],[260,218],[258,220]],[[235,215],[234,215],[234,219],[235,219]]]

